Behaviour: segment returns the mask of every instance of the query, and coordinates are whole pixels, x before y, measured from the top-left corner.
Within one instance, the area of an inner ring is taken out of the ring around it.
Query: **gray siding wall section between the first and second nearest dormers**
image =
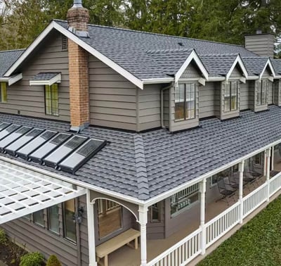
[[[199,87],[199,118],[214,116],[214,82]]]

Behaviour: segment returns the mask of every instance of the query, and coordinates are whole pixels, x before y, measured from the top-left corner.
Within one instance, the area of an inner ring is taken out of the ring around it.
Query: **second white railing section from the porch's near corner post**
[[[220,215],[214,217],[205,224],[206,227],[206,248],[216,242],[223,234],[235,227],[240,220],[240,203],[237,202]]]

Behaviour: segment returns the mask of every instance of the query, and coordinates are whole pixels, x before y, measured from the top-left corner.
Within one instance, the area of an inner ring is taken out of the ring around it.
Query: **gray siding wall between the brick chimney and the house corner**
[[[91,125],[136,130],[136,86],[89,56]]]

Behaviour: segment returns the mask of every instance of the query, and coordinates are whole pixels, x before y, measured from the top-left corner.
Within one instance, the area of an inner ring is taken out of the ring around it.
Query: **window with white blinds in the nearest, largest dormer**
[[[195,118],[195,84],[175,87],[175,120]]]

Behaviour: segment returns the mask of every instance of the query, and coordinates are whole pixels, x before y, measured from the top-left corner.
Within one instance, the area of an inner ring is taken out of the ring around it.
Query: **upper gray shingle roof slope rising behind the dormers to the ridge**
[[[55,22],[67,28],[66,21],[55,20]],[[192,49],[195,49],[199,56],[238,53],[242,57],[256,56],[243,46],[233,44],[97,25],[89,25],[89,36],[80,39],[139,79],[174,75]],[[165,50],[166,53],[157,53]]]

